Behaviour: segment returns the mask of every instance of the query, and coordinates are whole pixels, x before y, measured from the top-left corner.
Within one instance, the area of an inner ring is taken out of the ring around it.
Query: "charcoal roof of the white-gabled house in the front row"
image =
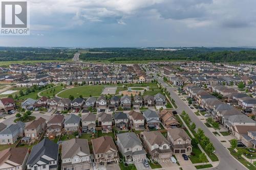
[[[36,162],[43,159],[41,158],[42,155],[46,155],[54,160],[57,160],[58,150],[59,147],[57,143],[54,143],[53,141],[47,138],[44,138],[38,144],[33,146],[27,164],[33,166]],[[47,162],[47,160],[42,161]]]

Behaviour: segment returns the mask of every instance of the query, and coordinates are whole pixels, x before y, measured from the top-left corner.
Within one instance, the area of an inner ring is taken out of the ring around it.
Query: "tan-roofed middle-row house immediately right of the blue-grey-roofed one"
[[[96,114],[87,113],[82,115],[82,132],[92,133],[96,128]]]

